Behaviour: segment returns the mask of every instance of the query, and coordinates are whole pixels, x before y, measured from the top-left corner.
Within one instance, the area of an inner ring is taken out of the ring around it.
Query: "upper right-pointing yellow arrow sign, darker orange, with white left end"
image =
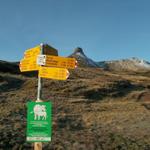
[[[68,68],[74,69],[77,67],[75,58],[65,58],[52,55],[39,55],[38,59],[43,58],[43,65],[46,67]]]

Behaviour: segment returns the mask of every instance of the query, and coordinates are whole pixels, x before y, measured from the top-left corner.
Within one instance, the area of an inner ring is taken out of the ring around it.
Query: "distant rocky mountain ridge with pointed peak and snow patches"
[[[150,62],[136,57],[112,61],[99,61],[88,58],[82,48],[76,48],[74,53],[69,57],[74,57],[77,59],[80,67],[100,67],[105,70],[114,71],[145,71],[150,70]]]

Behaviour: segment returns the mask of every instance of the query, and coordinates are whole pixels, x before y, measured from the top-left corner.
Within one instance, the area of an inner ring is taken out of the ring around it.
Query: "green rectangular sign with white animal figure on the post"
[[[27,103],[27,141],[51,141],[51,107],[50,102]]]

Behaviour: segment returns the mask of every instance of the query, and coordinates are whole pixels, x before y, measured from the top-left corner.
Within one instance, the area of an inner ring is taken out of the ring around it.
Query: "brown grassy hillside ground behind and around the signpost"
[[[26,138],[26,103],[37,78],[0,73],[0,149],[33,149]],[[53,104],[49,150],[149,150],[150,72],[71,71],[66,81],[43,80]]]

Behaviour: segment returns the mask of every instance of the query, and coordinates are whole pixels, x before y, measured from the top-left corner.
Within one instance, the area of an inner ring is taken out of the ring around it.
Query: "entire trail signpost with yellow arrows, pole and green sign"
[[[25,51],[20,71],[38,71],[37,100],[27,103],[27,141],[34,142],[34,150],[42,150],[42,142],[51,141],[52,133],[52,104],[41,100],[42,78],[66,80],[70,75],[67,69],[76,67],[76,59],[58,57],[58,51],[47,44]]]

